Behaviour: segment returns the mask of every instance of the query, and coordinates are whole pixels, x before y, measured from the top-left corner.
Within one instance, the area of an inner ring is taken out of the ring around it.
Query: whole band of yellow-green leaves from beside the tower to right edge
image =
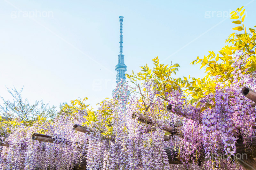
[[[172,78],[172,74],[176,74],[178,71],[179,64],[174,64],[168,67],[168,65],[160,64],[158,57],[153,59],[156,67],[149,69],[148,65],[141,67],[142,71],[132,75],[127,75],[132,82],[144,79],[152,79],[157,83],[156,90],[160,92],[162,99],[166,99],[165,92],[170,92],[173,89],[182,88],[184,92],[187,93],[188,99],[191,103],[195,103],[198,99],[215,92],[215,86],[217,82],[225,82],[226,85],[230,85],[234,78],[232,78],[231,72],[235,70],[232,65],[234,54],[238,54],[238,50],[241,50],[243,55],[240,55],[240,59],[243,59],[245,55],[249,55],[247,63],[243,65],[240,69],[242,74],[247,71],[252,73],[256,70],[256,57],[255,57],[255,40],[256,34],[255,29],[249,28],[250,33],[247,33],[244,26],[244,14],[245,9],[243,7],[237,8],[236,11],[231,12],[231,19],[239,19],[233,21],[234,24],[239,26],[232,28],[233,30],[243,31],[243,33],[232,33],[229,35],[224,47],[217,53],[209,51],[209,55],[203,58],[197,56],[191,64],[200,64],[201,68],[205,69],[206,76],[204,78],[194,78],[194,77],[183,77]],[[256,27],[256,26],[254,26]],[[219,76],[217,79],[212,79],[215,76]],[[229,79],[231,78],[231,79]]]

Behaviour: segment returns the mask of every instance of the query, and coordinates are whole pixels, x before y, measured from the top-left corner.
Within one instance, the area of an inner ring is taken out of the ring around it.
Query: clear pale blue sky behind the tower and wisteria
[[[246,6],[245,6],[246,5]],[[178,77],[203,77],[189,65],[219,51],[231,28],[228,14],[245,6],[247,28],[256,25],[256,1],[0,0],[0,95],[15,86],[29,101],[59,106],[88,97],[111,97],[119,54],[119,16],[128,74],[156,56],[179,63]],[[249,30],[249,29],[247,29]],[[0,102],[2,103],[2,101]]]

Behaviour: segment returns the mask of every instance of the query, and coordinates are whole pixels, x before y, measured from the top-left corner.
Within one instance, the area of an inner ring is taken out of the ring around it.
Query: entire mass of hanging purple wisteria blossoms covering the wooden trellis
[[[1,146],[0,168],[81,169],[86,161],[91,170],[241,169],[233,159],[236,141],[243,138],[250,149],[247,143],[255,135],[255,107],[241,88],[256,91],[256,78],[255,73],[241,73],[246,63],[240,55],[233,60],[233,77],[226,82],[218,82],[216,77],[215,93],[193,105],[181,89],[167,92],[167,100],[163,100],[152,80],[136,87],[121,81],[113,99],[100,104],[93,120],[86,119],[88,110],[79,110],[60,113],[53,122],[15,126],[2,138],[9,147]],[[183,114],[168,112],[169,104]],[[151,123],[138,122],[138,114],[149,117]],[[74,124],[86,126],[90,132],[74,131]],[[170,134],[164,131],[166,125],[176,132],[164,141],[164,135]],[[55,143],[32,140],[35,132],[51,135]],[[174,161],[180,164],[169,164]]]

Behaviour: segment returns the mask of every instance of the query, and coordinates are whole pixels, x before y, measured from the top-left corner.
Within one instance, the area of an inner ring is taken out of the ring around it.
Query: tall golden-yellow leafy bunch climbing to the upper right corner
[[[209,55],[204,58],[197,57],[191,64],[201,64],[201,68],[205,68],[206,76],[203,79],[192,78],[192,82],[187,82],[186,92],[191,94],[193,98],[198,99],[209,93],[214,93],[215,84],[217,82],[228,81],[226,85],[229,85],[233,81],[232,71],[241,70],[244,74],[245,70],[248,73],[252,73],[256,70],[256,58],[255,58],[255,29],[249,28],[251,33],[247,33],[244,26],[245,14],[243,6],[237,8],[236,11],[232,11],[230,14],[231,19],[239,19],[232,23],[239,26],[232,28],[233,30],[243,31],[244,33],[232,33],[226,40],[225,46],[218,52],[217,55],[213,51],[209,51]],[[255,27],[255,26],[254,26]],[[238,50],[241,50],[243,55],[240,55],[239,59],[243,59],[245,55],[249,55],[246,65],[242,65],[241,68],[234,68],[232,66],[234,55]],[[219,55],[220,54],[220,55]],[[200,69],[201,69],[200,68]],[[212,80],[214,76],[219,76],[217,80]],[[231,79],[229,79],[231,78]],[[190,85],[189,85],[190,84]],[[195,101],[195,100],[193,100]]]

